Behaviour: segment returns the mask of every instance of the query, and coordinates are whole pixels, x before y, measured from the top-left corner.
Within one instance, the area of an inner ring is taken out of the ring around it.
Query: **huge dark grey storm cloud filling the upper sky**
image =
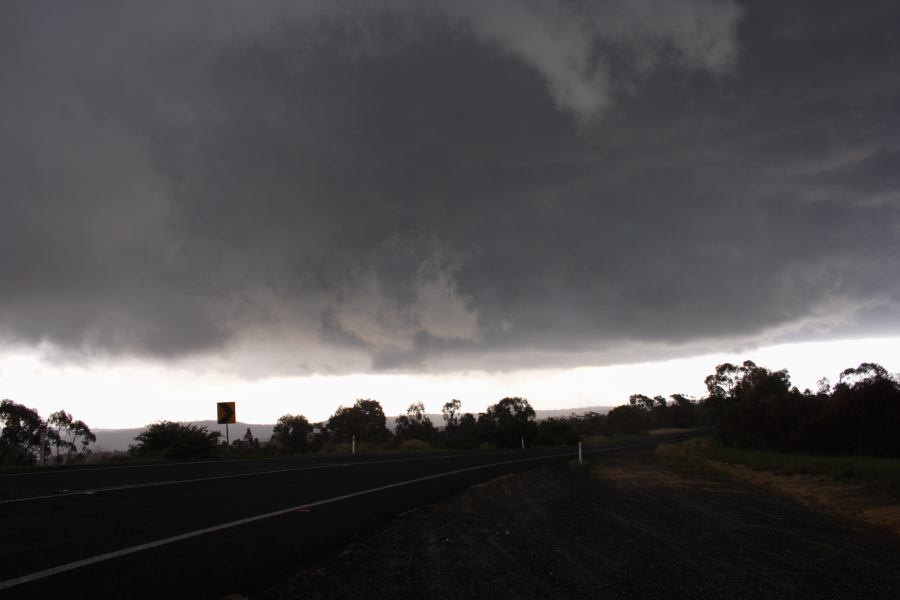
[[[896,332],[894,3],[347,6],[4,5],[3,339],[296,372]]]

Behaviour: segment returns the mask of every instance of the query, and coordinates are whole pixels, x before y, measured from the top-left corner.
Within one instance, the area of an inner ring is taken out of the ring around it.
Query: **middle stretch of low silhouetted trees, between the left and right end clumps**
[[[503,398],[484,412],[462,411],[460,400],[442,407],[443,427],[432,422],[422,402],[414,402],[395,420],[393,431],[377,400],[359,399],[352,406],[340,406],[327,420],[311,423],[304,415],[282,415],[268,442],[260,442],[248,429],[231,443],[232,455],[302,454],[308,452],[349,452],[351,443],[366,451],[422,451],[428,449],[513,448],[575,444],[591,437],[640,433],[651,426],[696,424],[698,403],[676,395],[671,403],[653,400],[652,410],[637,402],[604,415],[549,418],[538,421],[525,398]],[[205,426],[170,421],[150,425],[136,439],[131,453],[140,457],[186,458],[221,455],[219,432]]]

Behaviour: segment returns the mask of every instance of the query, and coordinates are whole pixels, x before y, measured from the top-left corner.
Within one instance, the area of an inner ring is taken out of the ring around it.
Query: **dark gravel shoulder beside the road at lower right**
[[[254,598],[900,598],[900,538],[652,450],[482,484]]]

